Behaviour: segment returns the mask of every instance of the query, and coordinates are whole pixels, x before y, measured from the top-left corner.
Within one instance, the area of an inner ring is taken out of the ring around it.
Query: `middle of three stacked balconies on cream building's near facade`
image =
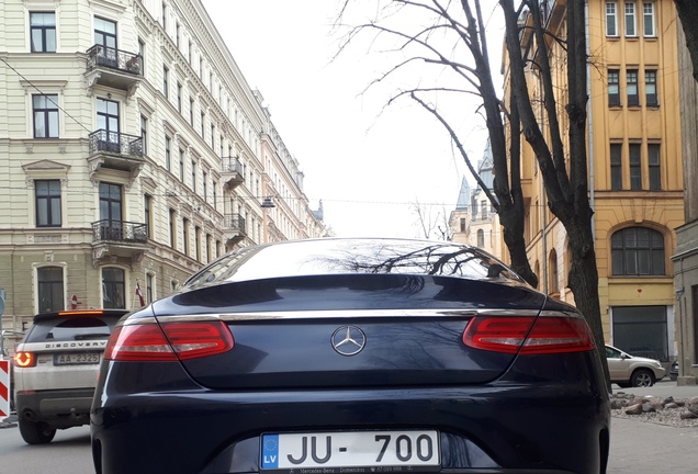
[[[143,138],[105,129],[92,132],[89,135],[88,163],[92,182],[101,168],[127,171],[133,182],[145,165]]]

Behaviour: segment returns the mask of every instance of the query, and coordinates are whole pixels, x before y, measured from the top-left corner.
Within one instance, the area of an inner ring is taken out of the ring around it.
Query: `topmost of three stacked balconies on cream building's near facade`
[[[132,97],[143,81],[143,58],[134,53],[94,45],[87,50],[87,83],[127,91]]]

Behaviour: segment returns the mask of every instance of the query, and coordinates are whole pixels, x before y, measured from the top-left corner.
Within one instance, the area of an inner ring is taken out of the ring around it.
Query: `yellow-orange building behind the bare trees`
[[[543,7],[549,30],[566,37],[566,1]],[[588,1],[589,200],[607,343],[663,362],[676,358],[674,229],[684,222],[677,23],[671,1]],[[530,22],[524,16],[520,22]],[[524,30],[522,47],[532,45]],[[551,42],[562,135],[566,54]],[[528,49],[533,54],[534,47]],[[505,59],[506,61],[506,59]],[[538,71],[528,71],[538,103]],[[505,81],[506,82],[506,81]],[[548,121],[541,106],[540,123]],[[526,240],[540,289],[574,303],[566,287],[567,235],[548,210],[541,174],[524,145]]]

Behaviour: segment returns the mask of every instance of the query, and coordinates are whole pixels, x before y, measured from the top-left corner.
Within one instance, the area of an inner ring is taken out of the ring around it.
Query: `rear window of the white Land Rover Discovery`
[[[34,324],[26,342],[108,339],[117,320],[116,316],[46,318]]]

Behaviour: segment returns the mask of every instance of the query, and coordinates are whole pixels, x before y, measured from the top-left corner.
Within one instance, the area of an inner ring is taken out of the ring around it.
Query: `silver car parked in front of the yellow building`
[[[666,374],[658,360],[631,356],[608,345],[606,360],[611,382],[622,388],[652,386]]]

